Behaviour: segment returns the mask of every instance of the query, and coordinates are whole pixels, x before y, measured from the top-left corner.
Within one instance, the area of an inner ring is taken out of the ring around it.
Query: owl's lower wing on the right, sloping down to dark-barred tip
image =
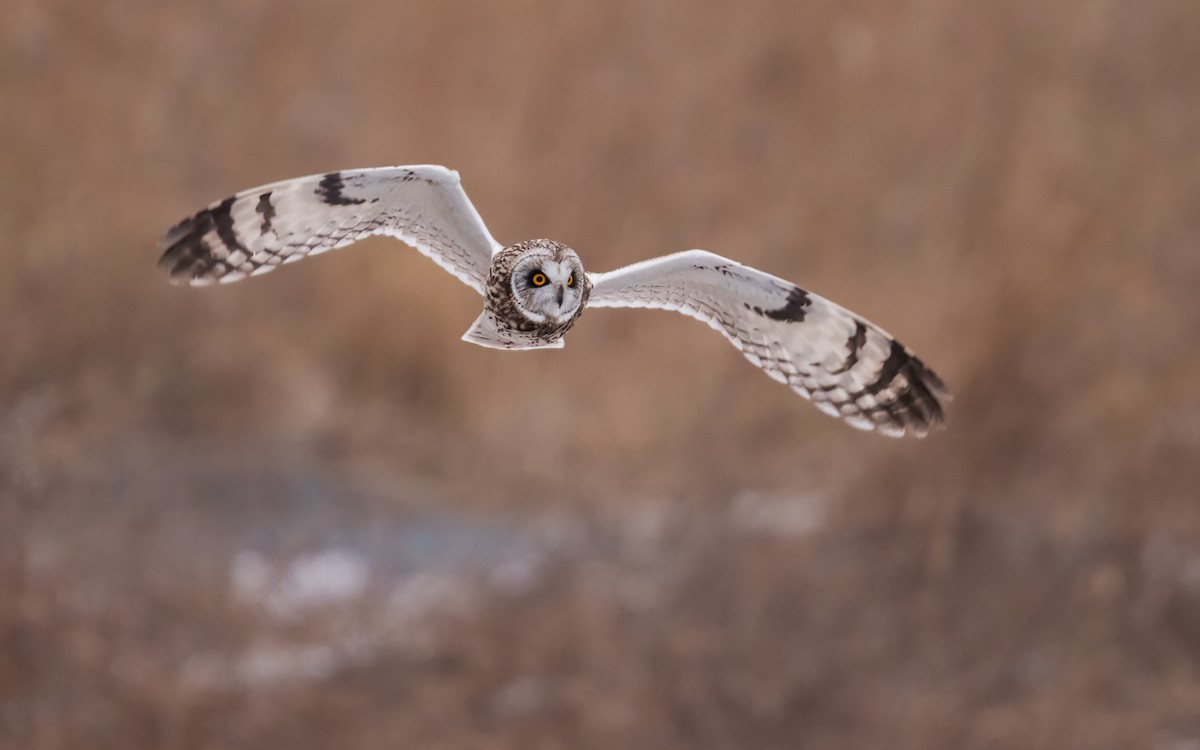
[[[948,391],[883,329],[796,284],[702,250],[593,274],[589,307],[658,307],[703,320],[751,362],[860,430],[923,437]]]

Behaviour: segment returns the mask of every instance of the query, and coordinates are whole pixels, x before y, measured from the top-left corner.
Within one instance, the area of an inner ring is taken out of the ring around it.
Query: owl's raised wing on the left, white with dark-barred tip
[[[500,246],[458,184],[436,166],[349,169],[284,180],[214,203],[172,229],[158,265],[208,284],[390,234],[484,294]]]

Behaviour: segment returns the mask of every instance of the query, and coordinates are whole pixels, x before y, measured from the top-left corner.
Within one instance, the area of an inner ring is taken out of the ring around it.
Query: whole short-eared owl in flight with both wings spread
[[[924,437],[943,421],[942,380],[848,310],[703,250],[590,274],[552,240],[503,246],[445,167],[330,172],[240,192],[175,226],[160,265],[174,282],[226,283],[376,234],[412,245],[484,296],[463,335],[481,347],[562,347],[592,307],[673,310],[853,427]]]

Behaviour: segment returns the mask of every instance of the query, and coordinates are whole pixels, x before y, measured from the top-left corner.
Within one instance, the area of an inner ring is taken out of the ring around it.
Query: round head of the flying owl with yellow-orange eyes
[[[512,304],[536,325],[557,325],[578,316],[590,282],[575,251],[552,240],[529,240],[516,250],[509,284]]]

